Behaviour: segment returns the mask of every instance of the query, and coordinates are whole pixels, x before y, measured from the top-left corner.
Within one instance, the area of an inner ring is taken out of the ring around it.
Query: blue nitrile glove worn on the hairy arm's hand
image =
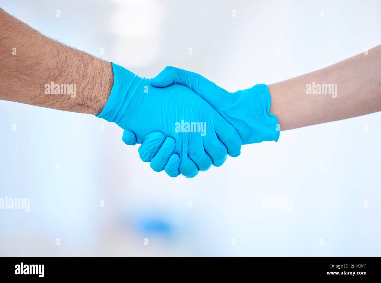
[[[162,145],[159,145],[154,155],[145,154],[144,146],[152,147],[150,141],[160,144],[164,137],[175,142],[173,154],[165,166],[171,165],[173,169],[179,164],[179,173],[186,177],[194,177],[199,170],[207,170],[212,164],[222,165],[227,153],[240,154],[241,140],[237,131],[189,88],[181,85],[154,88],[150,78],[138,77],[114,63],[112,70],[114,86],[97,117],[123,128],[123,141],[127,144],[133,144],[136,137],[136,141],[142,143],[143,150],[139,149],[139,153],[143,161],[151,161],[155,154],[162,152]],[[151,133],[153,135],[149,135]],[[166,152],[162,152],[163,155],[173,146],[173,142],[168,141],[164,142]],[[158,163],[160,167],[163,161]],[[166,172],[171,176],[178,174],[177,171]]]

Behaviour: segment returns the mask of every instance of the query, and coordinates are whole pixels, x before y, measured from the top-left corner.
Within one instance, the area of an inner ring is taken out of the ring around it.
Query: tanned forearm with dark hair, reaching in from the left
[[[0,99],[99,114],[113,80],[110,62],[56,42],[0,9]]]

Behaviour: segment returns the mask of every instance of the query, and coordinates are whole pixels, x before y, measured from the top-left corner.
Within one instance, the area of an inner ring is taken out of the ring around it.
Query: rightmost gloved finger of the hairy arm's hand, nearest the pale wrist
[[[235,128],[213,110],[213,126],[218,139],[225,145],[227,152],[231,157],[237,157],[241,154],[242,140]]]

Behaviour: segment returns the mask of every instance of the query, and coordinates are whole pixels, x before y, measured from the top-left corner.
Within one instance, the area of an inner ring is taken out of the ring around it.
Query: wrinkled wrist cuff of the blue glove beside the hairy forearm
[[[114,85],[106,105],[96,117],[117,123],[130,103],[141,78],[113,62],[111,64]]]

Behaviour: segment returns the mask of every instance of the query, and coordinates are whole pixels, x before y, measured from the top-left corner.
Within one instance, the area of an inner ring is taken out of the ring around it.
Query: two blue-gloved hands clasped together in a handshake
[[[194,177],[213,164],[240,155],[242,144],[277,141],[279,124],[269,113],[266,85],[235,93],[186,70],[166,67],[141,78],[112,63],[114,86],[96,117],[124,129],[125,144],[140,143],[139,155],[154,171]]]

